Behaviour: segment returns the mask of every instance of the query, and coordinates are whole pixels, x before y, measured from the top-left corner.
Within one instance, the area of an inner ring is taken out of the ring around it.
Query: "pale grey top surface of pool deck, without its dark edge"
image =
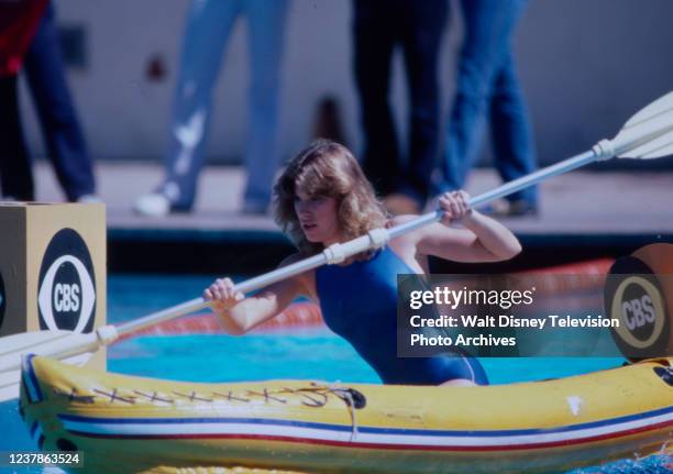
[[[189,214],[148,219],[132,211],[133,200],[161,179],[155,164],[99,163],[99,194],[107,203],[108,227],[123,230],[258,231],[276,233],[271,218],[239,212],[244,172],[208,167],[200,181],[196,209]],[[498,185],[489,169],[473,173],[473,196]],[[63,200],[46,163],[36,165],[37,198]],[[505,220],[528,235],[673,235],[673,172],[574,172],[541,185],[537,218]]]

